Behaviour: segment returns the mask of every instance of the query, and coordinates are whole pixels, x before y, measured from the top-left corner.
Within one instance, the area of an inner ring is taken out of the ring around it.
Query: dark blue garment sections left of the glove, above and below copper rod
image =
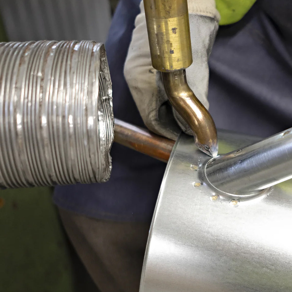
[[[144,126],[124,79],[123,68],[140,0],[120,0],[105,44],[112,78],[114,116]],[[149,222],[166,164],[114,143],[107,183],[55,187],[64,209],[108,220]]]

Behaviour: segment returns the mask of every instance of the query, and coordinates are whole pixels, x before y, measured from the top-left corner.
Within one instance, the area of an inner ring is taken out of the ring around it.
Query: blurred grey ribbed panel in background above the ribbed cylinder
[[[105,42],[108,0],[0,0],[9,41],[94,40]]]

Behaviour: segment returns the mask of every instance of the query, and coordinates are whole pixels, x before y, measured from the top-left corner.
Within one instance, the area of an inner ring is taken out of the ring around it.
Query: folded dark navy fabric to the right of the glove
[[[266,137],[292,126],[292,55],[291,34],[287,38],[262,5],[267,1],[220,27],[209,59],[208,100],[218,128]]]

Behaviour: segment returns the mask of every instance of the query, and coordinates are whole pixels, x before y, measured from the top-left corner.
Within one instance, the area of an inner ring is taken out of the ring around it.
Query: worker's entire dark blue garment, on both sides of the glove
[[[106,49],[115,117],[142,126],[123,77],[139,1],[120,1]],[[218,128],[268,136],[292,126],[292,59],[273,19],[258,1],[240,22],[220,27],[208,96]],[[150,221],[166,165],[115,143],[111,154],[109,182],[56,187],[55,203],[95,218]]]

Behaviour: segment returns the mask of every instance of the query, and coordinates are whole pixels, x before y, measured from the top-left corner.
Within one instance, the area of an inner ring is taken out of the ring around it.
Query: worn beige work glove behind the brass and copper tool
[[[218,30],[219,13],[215,0],[188,0],[193,63],[186,69],[187,81],[208,109],[208,58]],[[140,115],[151,131],[176,140],[181,130],[193,135],[166,96],[161,73],[151,65],[143,1],[135,20],[124,75]]]

